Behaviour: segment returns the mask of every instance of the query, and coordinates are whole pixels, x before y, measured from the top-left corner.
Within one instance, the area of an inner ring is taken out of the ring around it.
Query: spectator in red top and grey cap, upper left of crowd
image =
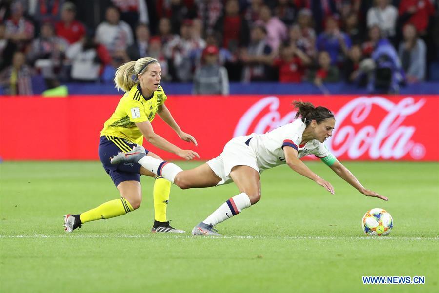
[[[85,27],[76,17],[76,6],[72,2],[62,5],[61,20],[55,25],[58,37],[66,39],[70,44],[76,43],[85,36]]]

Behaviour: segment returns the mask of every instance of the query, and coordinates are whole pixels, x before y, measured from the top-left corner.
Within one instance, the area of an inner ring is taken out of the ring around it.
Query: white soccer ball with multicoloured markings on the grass
[[[361,227],[368,236],[385,236],[393,228],[393,219],[386,210],[376,208],[364,214]]]

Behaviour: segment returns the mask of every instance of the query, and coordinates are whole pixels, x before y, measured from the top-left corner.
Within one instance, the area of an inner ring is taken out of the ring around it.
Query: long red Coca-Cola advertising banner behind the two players
[[[120,96],[0,98],[0,156],[5,160],[96,160],[103,123]],[[232,137],[264,133],[294,120],[293,100],[335,113],[327,147],[340,160],[439,160],[438,96],[170,96],[166,105],[181,129],[198,141],[180,140],[157,117],[154,131],[207,160]],[[164,159],[173,154],[144,143]],[[310,158],[312,158],[310,156]]]

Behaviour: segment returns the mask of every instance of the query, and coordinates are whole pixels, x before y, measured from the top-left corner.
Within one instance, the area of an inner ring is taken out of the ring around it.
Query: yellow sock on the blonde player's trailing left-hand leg
[[[125,215],[133,211],[133,207],[125,198],[114,199],[101,204],[99,207],[82,213],[81,222],[86,223],[100,219],[109,219],[119,215]]]

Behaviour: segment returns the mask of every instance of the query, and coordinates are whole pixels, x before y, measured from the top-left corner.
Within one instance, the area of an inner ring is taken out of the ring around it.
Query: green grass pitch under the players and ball
[[[199,162],[180,162],[191,168]],[[118,198],[99,162],[3,162],[1,292],[439,292],[438,163],[346,162],[388,202],[359,194],[319,162],[308,166],[335,195],[286,166],[262,175],[260,202],[217,226],[189,231],[238,194],[234,184],[180,190],[168,219],[187,234],[151,234],[153,180],[139,210],[63,231],[66,213]],[[371,208],[394,219],[367,237]],[[363,285],[361,276],[425,276],[423,285]]]

